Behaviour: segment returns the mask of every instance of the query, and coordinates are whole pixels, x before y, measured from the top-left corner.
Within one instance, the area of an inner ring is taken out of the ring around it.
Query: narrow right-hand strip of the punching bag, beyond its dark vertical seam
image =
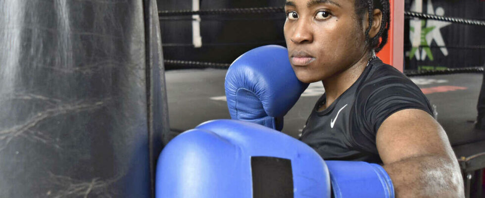
[[[162,41],[156,0],[145,3],[145,43],[148,95],[148,147],[150,163],[151,197],[154,197],[155,171],[158,155],[177,133],[171,132],[168,117],[165,68],[163,65]]]

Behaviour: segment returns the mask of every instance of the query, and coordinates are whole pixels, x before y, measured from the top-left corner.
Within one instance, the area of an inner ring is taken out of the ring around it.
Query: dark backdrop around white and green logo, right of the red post
[[[411,9],[414,0],[405,1],[405,10]],[[427,1],[423,0],[423,12],[427,13]],[[485,20],[485,1],[484,0],[433,0],[433,7],[444,9],[444,16],[460,17],[466,19]],[[409,19],[405,20],[405,32],[409,32]],[[416,57],[409,58],[406,51],[411,49],[409,34],[404,36],[404,58],[405,69],[416,70],[420,66],[433,66],[445,68],[476,67],[484,66],[485,63],[485,27],[464,24],[450,24],[441,28],[448,55],[444,56],[436,42],[432,42],[431,51],[434,60],[426,58],[417,60]],[[439,68],[435,68],[439,69]]]

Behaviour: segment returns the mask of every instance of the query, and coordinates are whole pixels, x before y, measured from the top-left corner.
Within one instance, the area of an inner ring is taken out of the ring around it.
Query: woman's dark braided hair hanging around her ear
[[[369,31],[372,27],[374,9],[380,9],[383,16],[381,21],[381,29],[375,37],[369,37]],[[365,11],[369,13],[369,27],[365,31],[366,43],[369,49],[374,49],[379,52],[388,43],[388,32],[390,24],[390,8],[389,0],[355,0],[355,12],[360,21],[365,16]]]

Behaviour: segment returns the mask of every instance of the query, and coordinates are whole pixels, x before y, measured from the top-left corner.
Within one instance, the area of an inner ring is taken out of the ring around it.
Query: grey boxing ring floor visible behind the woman
[[[190,69],[166,72],[170,127],[182,132],[212,119],[230,118],[224,97],[227,70]],[[474,130],[482,74],[419,76],[411,79],[436,106],[437,119],[452,146],[485,140],[485,132]],[[323,94],[321,83],[313,83],[285,116],[283,132],[297,138],[316,100]]]

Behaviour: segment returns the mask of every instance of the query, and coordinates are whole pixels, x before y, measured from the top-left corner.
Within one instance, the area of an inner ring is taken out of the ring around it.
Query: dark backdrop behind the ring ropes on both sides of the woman
[[[405,0],[410,10],[412,0]],[[200,10],[221,8],[282,7],[284,0],[200,0]],[[427,10],[423,0],[423,12]],[[485,20],[484,0],[433,0],[433,6],[442,7],[444,16]],[[158,0],[159,10],[191,9],[192,0]],[[201,15],[202,47],[192,45],[192,17],[160,17],[165,59],[231,63],[249,49],[263,45],[285,46],[283,25],[285,14]],[[410,59],[409,19],[405,20],[405,70],[428,66],[432,69],[483,66],[485,63],[485,27],[451,24],[440,29],[448,55],[444,56],[436,43],[431,44],[434,60]],[[166,69],[181,69],[167,64]]]

